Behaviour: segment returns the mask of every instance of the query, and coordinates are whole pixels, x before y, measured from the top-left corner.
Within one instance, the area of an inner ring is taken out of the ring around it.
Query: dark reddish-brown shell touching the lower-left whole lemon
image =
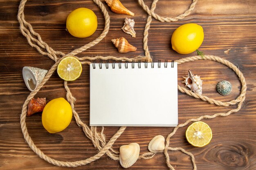
[[[27,106],[27,116],[43,111],[46,105],[45,98],[32,98]]]

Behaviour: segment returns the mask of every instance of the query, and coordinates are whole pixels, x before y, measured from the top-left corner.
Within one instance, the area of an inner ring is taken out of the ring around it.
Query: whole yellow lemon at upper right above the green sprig
[[[173,50],[180,54],[189,54],[197,50],[204,40],[202,26],[194,23],[184,24],[178,27],[172,35]]]

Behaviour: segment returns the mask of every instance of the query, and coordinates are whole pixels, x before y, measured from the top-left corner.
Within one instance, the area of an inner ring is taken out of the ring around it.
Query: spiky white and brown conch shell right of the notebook
[[[194,93],[202,95],[203,81],[200,79],[200,76],[193,75],[190,70],[188,73],[188,77],[183,77],[185,80],[182,83],[185,83],[185,86],[188,86]]]

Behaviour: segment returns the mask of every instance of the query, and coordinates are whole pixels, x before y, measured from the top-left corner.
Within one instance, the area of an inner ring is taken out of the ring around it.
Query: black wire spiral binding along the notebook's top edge
[[[134,68],[135,67],[135,61],[134,60],[132,60],[132,68]],[[99,68],[101,69],[102,68],[102,64],[103,64],[103,61],[102,60],[100,60],[100,62],[99,62]],[[106,60],[106,68],[108,69],[109,67],[108,67],[108,65],[110,64],[109,63],[109,60]],[[138,68],[141,68],[141,60],[139,60],[136,64],[138,64]],[[154,64],[155,64],[155,62],[154,62],[154,60],[152,60],[152,62],[151,62],[151,68],[154,68]],[[164,60],[164,68],[167,68],[167,64],[168,64],[168,61],[167,60]],[[115,68],[115,65],[116,65],[116,61],[115,60],[113,60],[113,62],[112,62],[112,68]],[[148,60],[146,60],[145,62],[144,62],[144,66],[145,66],[145,68],[148,68]],[[173,68],[174,67],[174,60],[171,60],[171,68]],[[92,62],[92,68],[93,69],[95,69],[96,68],[96,61],[94,60],[93,62]],[[122,68],[122,60],[119,60],[119,62],[118,62],[118,68]],[[128,68],[128,60],[126,60],[125,61],[125,68]],[[161,68],[161,60],[158,60],[158,62],[157,62],[157,68]]]

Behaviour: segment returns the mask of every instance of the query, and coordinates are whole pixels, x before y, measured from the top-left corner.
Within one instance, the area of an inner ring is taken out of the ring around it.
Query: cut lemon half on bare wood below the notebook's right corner
[[[210,143],[212,138],[211,128],[202,121],[191,124],[186,130],[186,139],[189,144],[203,147]]]

